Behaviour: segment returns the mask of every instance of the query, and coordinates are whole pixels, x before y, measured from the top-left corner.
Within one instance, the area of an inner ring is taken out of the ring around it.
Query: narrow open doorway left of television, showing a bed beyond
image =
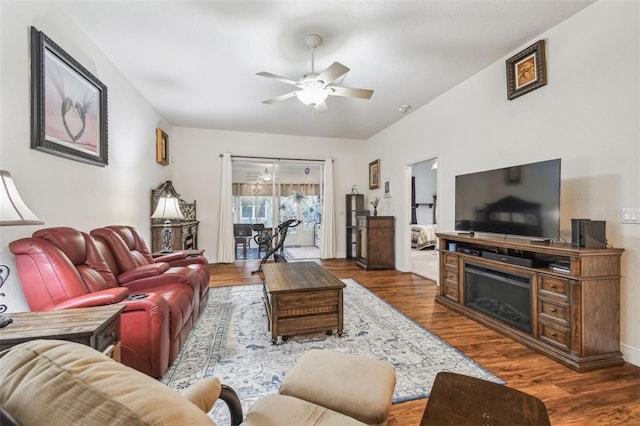
[[[411,165],[411,272],[438,282],[438,159]]]

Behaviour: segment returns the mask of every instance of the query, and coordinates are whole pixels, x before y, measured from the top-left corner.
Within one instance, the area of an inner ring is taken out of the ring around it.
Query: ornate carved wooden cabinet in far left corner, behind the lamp
[[[180,210],[184,215],[183,220],[173,219],[169,224],[171,228],[171,247],[174,250],[198,249],[198,221],[196,220],[196,202],[187,203],[180,199],[170,180],[164,182],[156,189],[151,190],[151,214],[158,205],[158,198],[163,192],[173,192],[179,199]],[[151,219],[151,251],[158,252],[162,248],[163,219]]]

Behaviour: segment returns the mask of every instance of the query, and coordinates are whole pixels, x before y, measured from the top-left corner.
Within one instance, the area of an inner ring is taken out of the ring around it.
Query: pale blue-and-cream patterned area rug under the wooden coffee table
[[[203,377],[217,376],[236,390],[246,413],[254,401],[277,393],[282,378],[306,351],[321,348],[393,364],[393,402],[428,397],[440,371],[504,384],[356,281],[342,281],[342,337],[320,332],[291,336],[285,343],[279,339],[276,345],[267,330],[261,284],[212,288],[207,307],[162,382],[182,391]],[[228,424],[222,403],[210,416],[219,425]]]

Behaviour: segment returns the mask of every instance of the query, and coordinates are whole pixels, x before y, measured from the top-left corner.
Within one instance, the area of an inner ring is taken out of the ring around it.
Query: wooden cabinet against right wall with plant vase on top
[[[394,222],[393,216],[358,216],[358,266],[364,269],[395,269]]]

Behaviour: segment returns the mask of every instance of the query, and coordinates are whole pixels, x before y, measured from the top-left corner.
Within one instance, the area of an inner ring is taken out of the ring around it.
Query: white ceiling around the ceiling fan
[[[592,1],[58,1],[173,126],[368,139]],[[312,113],[262,101],[338,61],[343,86]],[[552,72],[552,71],[551,71]],[[99,77],[99,76],[98,76]],[[506,88],[505,88],[506,99]]]

